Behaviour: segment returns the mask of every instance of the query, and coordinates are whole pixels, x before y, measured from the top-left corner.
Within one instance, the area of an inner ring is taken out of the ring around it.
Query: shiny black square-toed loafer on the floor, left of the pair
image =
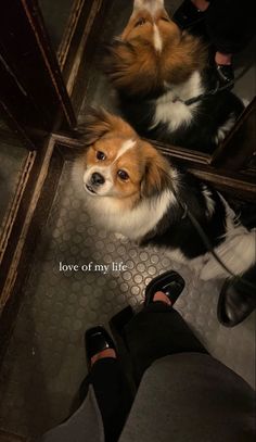
[[[87,362],[90,366],[92,356],[106,349],[116,351],[113,339],[102,326],[89,328],[85,336]]]

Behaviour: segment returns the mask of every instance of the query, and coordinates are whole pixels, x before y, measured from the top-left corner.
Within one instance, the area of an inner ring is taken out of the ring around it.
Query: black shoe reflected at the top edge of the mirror
[[[204,12],[195,8],[190,0],[184,0],[183,3],[174,13],[171,20],[180,27],[188,29],[204,20]]]

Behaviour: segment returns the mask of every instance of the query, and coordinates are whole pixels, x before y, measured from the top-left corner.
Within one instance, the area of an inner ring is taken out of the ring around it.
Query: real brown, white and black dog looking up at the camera
[[[74,163],[73,177],[95,223],[166,250],[202,279],[227,277],[192,215],[232,273],[254,265],[255,230],[236,219],[219,192],[170,164],[123,118],[91,110],[80,134],[86,149]]]

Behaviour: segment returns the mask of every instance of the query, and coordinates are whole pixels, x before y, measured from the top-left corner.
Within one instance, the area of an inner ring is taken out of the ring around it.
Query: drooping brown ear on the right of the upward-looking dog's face
[[[145,146],[145,169],[141,182],[141,195],[159,194],[170,186],[170,165],[151,144]]]

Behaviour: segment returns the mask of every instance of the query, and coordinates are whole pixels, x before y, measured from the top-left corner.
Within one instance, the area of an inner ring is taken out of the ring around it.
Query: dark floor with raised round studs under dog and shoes
[[[220,326],[219,282],[195,279],[163,252],[95,228],[72,185],[71,167],[67,162],[0,372],[0,428],[31,435],[63,420],[86,375],[85,330],[107,325],[127,303],[136,307],[145,285],[168,268],[187,282],[177,310],[213,355],[253,383],[255,318],[234,329]],[[90,262],[90,271],[61,270]],[[113,271],[113,262],[128,268]],[[108,266],[107,271],[95,270],[95,265]]]

